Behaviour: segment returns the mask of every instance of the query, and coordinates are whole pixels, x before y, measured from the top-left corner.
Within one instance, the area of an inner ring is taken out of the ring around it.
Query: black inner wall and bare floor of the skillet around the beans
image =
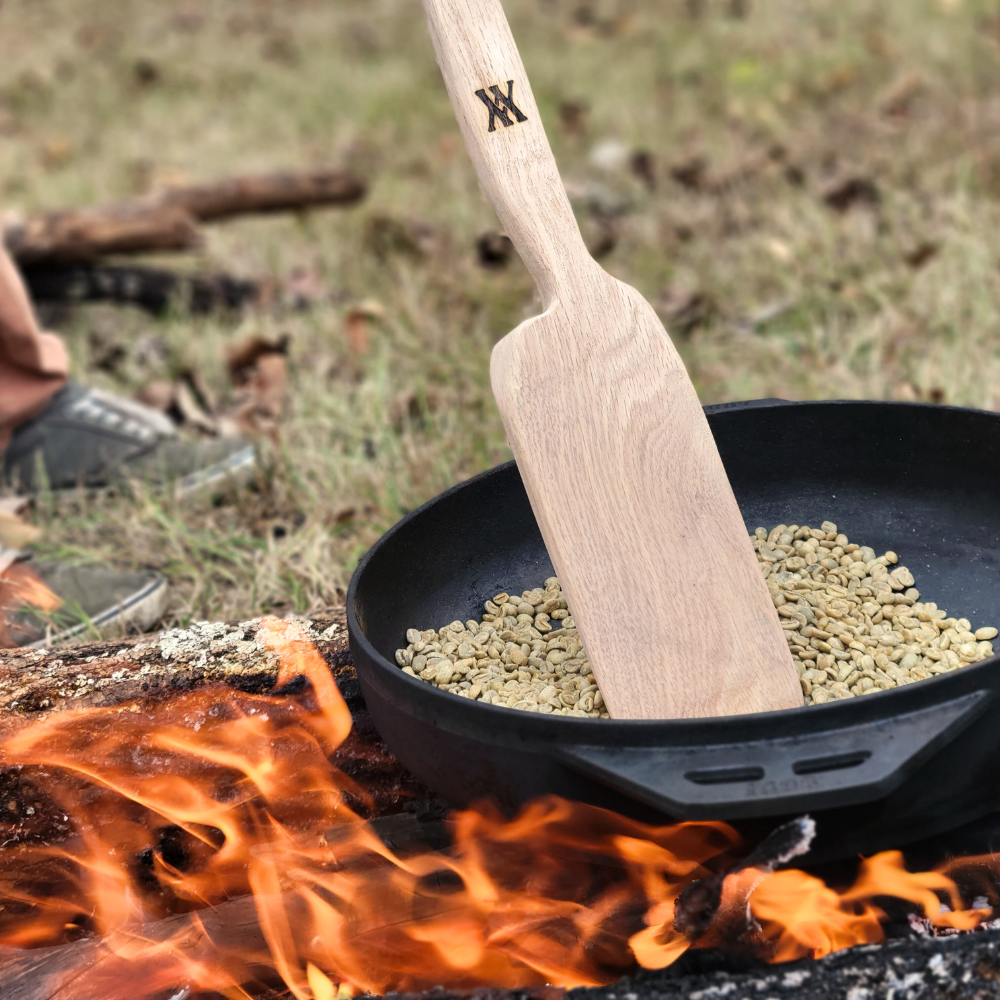
[[[853,542],[893,549],[923,600],[973,628],[1000,627],[1000,416],[880,402],[707,412],[748,530],[834,521]],[[378,606],[361,624],[392,661],[408,628],[478,619],[496,592],[519,593],[552,572],[510,463],[403,522],[373,554],[355,607]]]

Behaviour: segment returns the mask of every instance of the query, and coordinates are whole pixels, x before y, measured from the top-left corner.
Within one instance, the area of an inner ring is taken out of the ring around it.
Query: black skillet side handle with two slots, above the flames
[[[857,805],[895,790],[986,709],[975,691],[840,729],[713,746],[570,746],[569,767],[678,819],[740,819]]]

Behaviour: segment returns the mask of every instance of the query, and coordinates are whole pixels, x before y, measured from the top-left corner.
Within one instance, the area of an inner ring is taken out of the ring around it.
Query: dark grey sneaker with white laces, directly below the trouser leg
[[[134,478],[191,493],[242,479],[254,462],[246,440],[186,441],[156,410],[70,382],[14,431],[3,479],[28,492],[46,481],[63,490]]]

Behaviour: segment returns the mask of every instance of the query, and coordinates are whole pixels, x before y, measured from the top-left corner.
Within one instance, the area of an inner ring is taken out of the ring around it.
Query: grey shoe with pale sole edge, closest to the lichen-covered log
[[[167,581],[152,570],[73,566],[0,549],[0,647],[146,632],[166,604]]]

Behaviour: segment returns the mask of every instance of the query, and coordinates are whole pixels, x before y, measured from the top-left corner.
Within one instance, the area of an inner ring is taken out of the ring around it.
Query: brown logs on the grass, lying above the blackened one
[[[173,187],[120,205],[30,216],[5,225],[3,242],[22,266],[80,263],[116,253],[192,250],[201,243],[199,222],[350,205],[366,190],[363,180],[336,170],[235,177]]]

